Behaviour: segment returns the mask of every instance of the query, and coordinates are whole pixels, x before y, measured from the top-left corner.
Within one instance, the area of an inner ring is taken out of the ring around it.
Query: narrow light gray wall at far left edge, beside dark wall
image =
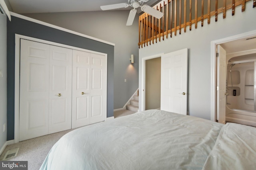
[[[3,132],[4,123],[7,123],[7,61],[6,61],[6,16],[0,15],[0,149],[6,142],[7,131]]]

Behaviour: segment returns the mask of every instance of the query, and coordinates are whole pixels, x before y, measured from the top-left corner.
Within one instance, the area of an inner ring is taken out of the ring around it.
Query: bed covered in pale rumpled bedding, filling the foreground
[[[64,135],[40,170],[250,170],[256,128],[147,110]]]

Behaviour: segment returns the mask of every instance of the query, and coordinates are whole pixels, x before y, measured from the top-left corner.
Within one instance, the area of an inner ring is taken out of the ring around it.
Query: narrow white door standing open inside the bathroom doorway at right
[[[226,123],[226,51],[217,45],[216,119]]]

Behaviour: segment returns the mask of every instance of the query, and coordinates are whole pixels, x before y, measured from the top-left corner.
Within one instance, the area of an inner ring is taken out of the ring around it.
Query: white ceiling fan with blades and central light
[[[121,3],[121,4],[112,4],[112,5],[105,5],[105,6],[100,6],[102,10],[113,10],[113,9],[118,9],[118,8],[127,8],[128,6],[131,6],[132,10],[130,10],[130,14],[128,16],[128,20],[126,25],[132,25],[133,20],[136,15],[136,8],[140,7],[143,12],[146,12],[150,14],[151,16],[156,17],[157,19],[160,19],[164,13],[155,10],[154,8],[148,6],[148,5],[143,5],[144,2],[148,2],[149,0],[128,0],[128,3]],[[143,5],[143,6],[142,6]]]

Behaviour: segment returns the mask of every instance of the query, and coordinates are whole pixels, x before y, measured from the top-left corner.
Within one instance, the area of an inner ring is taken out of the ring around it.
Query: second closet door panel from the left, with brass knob
[[[50,46],[49,133],[71,129],[72,49]]]

